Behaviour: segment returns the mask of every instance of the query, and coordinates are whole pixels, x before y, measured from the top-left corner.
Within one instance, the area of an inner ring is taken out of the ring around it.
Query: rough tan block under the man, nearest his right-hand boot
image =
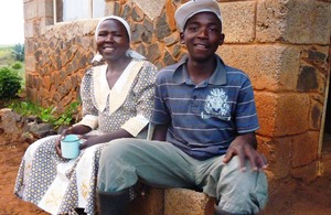
[[[212,215],[214,198],[186,189],[164,191],[164,215]]]

